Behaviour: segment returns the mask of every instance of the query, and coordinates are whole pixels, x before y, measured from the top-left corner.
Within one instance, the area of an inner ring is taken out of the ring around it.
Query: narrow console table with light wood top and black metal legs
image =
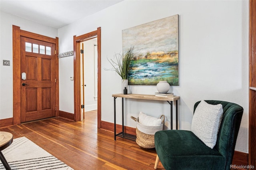
[[[171,129],[172,129],[172,102],[176,101],[176,129],[178,129],[178,100],[180,99],[179,96],[174,97],[157,97],[155,95],[140,95],[140,94],[113,94],[112,97],[114,97],[114,140],[116,140],[116,136],[126,138],[129,140],[136,140],[136,136],[132,134],[124,133],[124,98],[130,98],[130,99],[143,99],[143,100],[158,100],[158,101],[167,101],[171,106]],[[116,98],[122,97],[122,132],[116,134]]]

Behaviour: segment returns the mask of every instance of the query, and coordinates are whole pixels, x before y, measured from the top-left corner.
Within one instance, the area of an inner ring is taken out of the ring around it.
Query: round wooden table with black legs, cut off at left
[[[6,170],[11,170],[8,162],[6,161],[2,150],[10,146],[12,144],[13,135],[9,132],[2,132],[0,131],[0,160],[3,163]]]

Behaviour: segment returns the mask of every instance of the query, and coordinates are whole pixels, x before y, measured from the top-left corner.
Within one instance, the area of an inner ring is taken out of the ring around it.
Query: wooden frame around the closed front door
[[[55,60],[55,77],[56,77],[56,117],[59,116],[59,39],[42,36],[32,32],[20,30],[20,27],[12,25],[12,63],[13,63],[13,125],[20,125],[21,123],[21,72],[20,72],[20,37],[32,38],[44,42],[54,43],[56,49]]]

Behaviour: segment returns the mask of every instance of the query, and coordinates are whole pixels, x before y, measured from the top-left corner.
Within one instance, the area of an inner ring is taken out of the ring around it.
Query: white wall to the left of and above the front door
[[[21,30],[56,38],[58,30],[31,22],[5,12],[0,13],[0,119],[13,117],[12,89],[12,25]],[[3,60],[10,60],[10,66],[3,66]]]

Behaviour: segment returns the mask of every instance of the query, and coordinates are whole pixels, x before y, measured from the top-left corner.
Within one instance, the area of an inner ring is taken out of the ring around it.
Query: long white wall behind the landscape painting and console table
[[[179,14],[180,85],[171,87],[170,92],[181,98],[178,102],[179,128],[190,130],[196,101],[213,99],[238,103],[244,108],[244,115],[236,150],[248,152],[248,1],[126,0],[60,28],[60,53],[73,50],[74,35],[80,36],[101,27],[101,120],[113,123],[112,94],[120,93],[121,78],[104,68],[111,68],[107,57],[122,50],[122,30],[175,14]],[[70,61],[60,62],[60,69],[65,67],[71,73],[73,63]],[[156,86],[129,88],[138,94],[156,92]],[[67,91],[73,93],[73,86],[64,88],[60,83],[60,94]],[[164,128],[170,128],[168,103],[128,99],[125,104],[125,125],[136,127],[130,116],[136,117],[143,111],[154,117],[166,115]],[[73,107],[72,97],[60,97],[60,110],[70,111],[67,108]],[[120,99],[117,99],[117,111],[121,111]],[[120,114],[117,123],[121,124]]]

